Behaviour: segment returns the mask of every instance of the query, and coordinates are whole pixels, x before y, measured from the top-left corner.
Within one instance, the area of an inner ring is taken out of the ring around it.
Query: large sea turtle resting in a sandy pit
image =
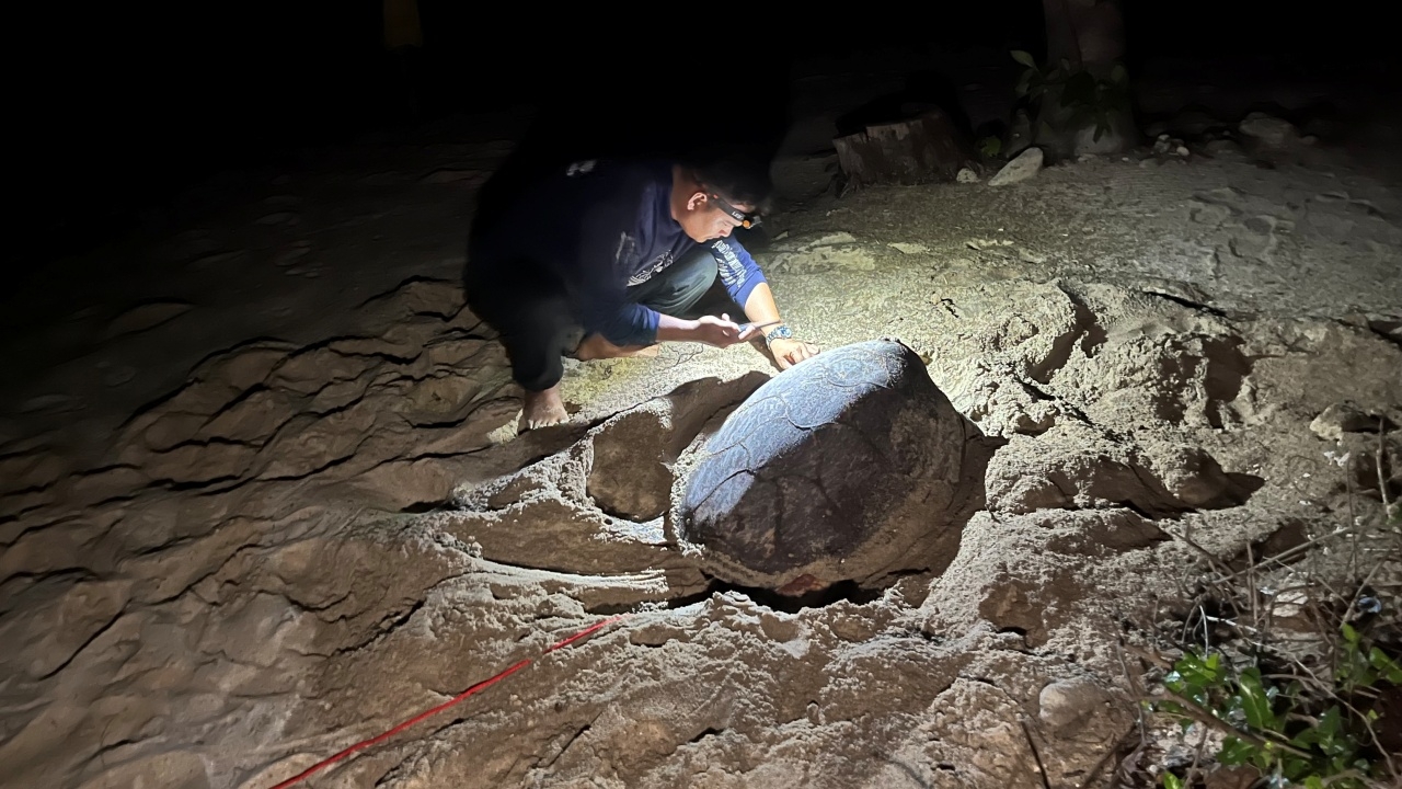
[[[911,569],[930,559],[903,556],[917,543],[952,556],[965,425],[904,344],[824,351],[760,386],[688,463],[676,538],[712,576],[787,594]]]

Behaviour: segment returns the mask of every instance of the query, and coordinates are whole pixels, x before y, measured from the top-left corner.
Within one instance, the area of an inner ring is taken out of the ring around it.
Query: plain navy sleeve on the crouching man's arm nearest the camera
[[[637,205],[608,201],[586,212],[573,268],[583,329],[603,334],[614,345],[651,345],[658,340],[658,312],[627,299],[622,274],[634,254],[637,211]]]

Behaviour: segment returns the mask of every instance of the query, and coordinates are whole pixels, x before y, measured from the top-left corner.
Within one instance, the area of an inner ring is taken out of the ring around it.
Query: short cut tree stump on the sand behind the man
[[[967,142],[939,110],[879,124],[833,140],[850,185],[953,181],[973,159]]]

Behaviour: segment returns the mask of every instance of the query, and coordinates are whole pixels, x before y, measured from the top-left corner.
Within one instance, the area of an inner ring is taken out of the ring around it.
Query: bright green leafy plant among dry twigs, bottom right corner
[[[1192,650],[1164,677],[1169,698],[1148,706],[1176,717],[1183,730],[1200,723],[1223,731],[1217,762],[1249,765],[1272,789],[1378,786],[1396,778],[1374,737],[1380,716],[1352,702],[1402,687],[1402,665],[1350,625],[1340,630],[1332,687],[1322,692],[1300,678],[1263,674],[1253,663],[1231,664],[1223,651]],[[1165,772],[1164,786],[1182,789],[1185,781]]]

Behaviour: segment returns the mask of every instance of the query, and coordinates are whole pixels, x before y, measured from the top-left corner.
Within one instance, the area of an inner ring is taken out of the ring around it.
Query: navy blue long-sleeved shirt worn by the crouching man
[[[649,345],[658,312],[629,300],[641,285],[700,246],[672,218],[672,164],[576,161],[533,184],[498,218],[484,251],[531,258],[555,272],[586,331],[615,345]],[[764,274],[733,237],[705,241],[721,282],[744,305]]]

